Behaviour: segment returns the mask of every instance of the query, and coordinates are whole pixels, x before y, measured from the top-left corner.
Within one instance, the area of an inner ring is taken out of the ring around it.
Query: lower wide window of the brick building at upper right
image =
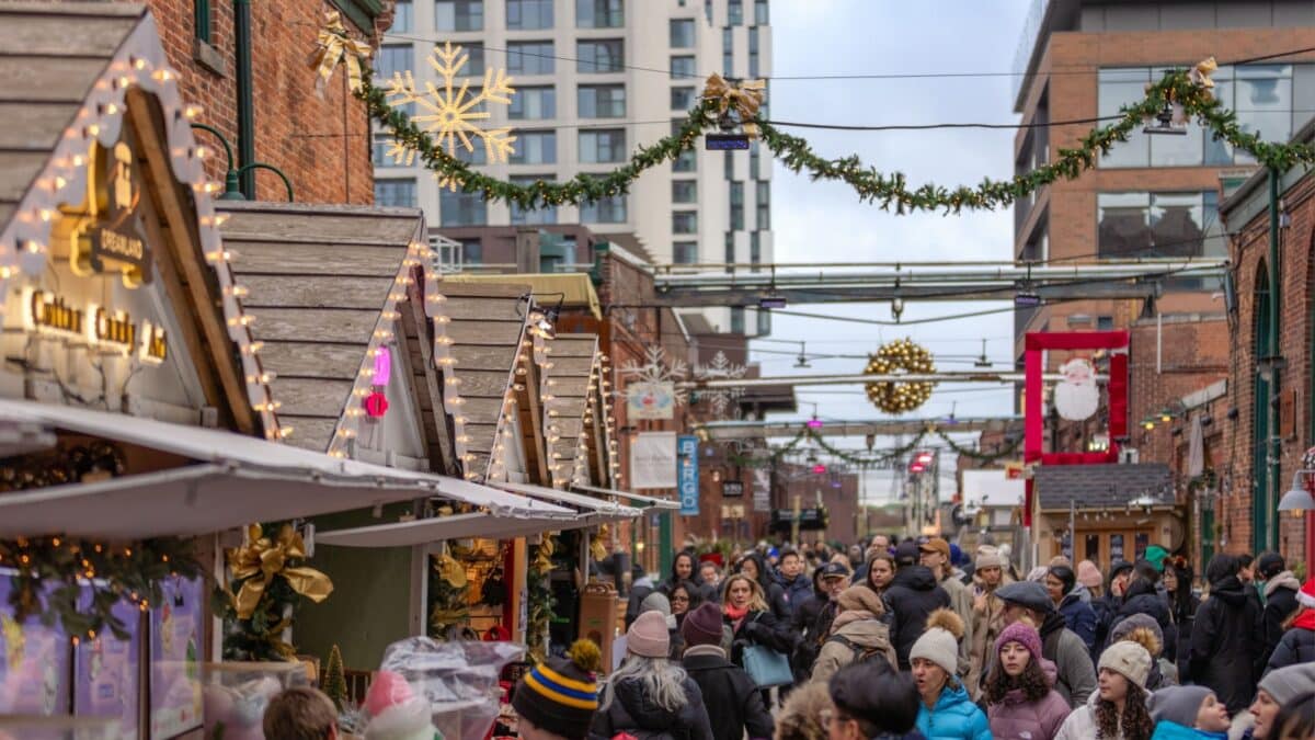
[[[1101,258],[1228,254],[1215,191],[1101,192],[1097,209]]]

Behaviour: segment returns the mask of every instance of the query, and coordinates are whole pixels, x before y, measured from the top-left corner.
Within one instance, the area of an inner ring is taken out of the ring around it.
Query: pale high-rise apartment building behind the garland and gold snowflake
[[[707,75],[756,79],[772,71],[768,0],[398,0],[376,61],[376,76],[410,70],[418,86],[441,78],[426,62],[434,45],[469,54],[473,87],[502,67],[517,90],[510,105],[489,105],[488,126],[517,137],[508,163],[463,154],[498,178],[565,180],[608,172],[639,146],[679,126]],[[589,205],[522,211],[441,188],[419,167],[388,158],[375,134],[376,203],[418,205],[435,234],[469,226],[583,224],[655,263],[771,262],[771,157],[693,151],[644,172],[626,196]],[[462,238],[463,269],[485,263],[481,237]],[[569,249],[567,242],[567,248]],[[590,259],[581,245],[564,263]],[[757,312],[700,311],[719,332],[767,330]]]

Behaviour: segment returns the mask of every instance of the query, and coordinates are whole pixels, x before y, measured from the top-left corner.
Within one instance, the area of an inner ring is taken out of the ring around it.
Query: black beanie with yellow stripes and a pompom
[[[521,677],[512,707],[521,719],[567,740],[584,740],[598,708],[598,647],[577,640],[565,658],[548,657]]]

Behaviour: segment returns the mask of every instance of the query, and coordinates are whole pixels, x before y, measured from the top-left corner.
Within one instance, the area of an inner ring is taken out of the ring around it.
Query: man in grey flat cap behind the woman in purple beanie
[[[1082,639],[1064,625],[1045,586],[1018,581],[995,594],[1005,602],[1005,624],[1026,619],[1041,636],[1041,656],[1055,664],[1055,690],[1070,707],[1081,707],[1095,691],[1095,669]]]

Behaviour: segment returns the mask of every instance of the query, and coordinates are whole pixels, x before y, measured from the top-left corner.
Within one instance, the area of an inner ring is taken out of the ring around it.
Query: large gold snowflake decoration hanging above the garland
[[[416,104],[416,115],[412,121],[434,136],[434,142],[447,149],[447,153],[456,157],[458,146],[467,153],[475,151],[475,140],[480,140],[490,163],[506,162],[514,151],[512,146],[515,137],[510,128],[485,130],[479,121],[489,119],[485,109],[489,103],[512,104],[512,78],[505,70],[485,70],[484,87],[472,92],[469,80],[458,83],[462,70],[469,62],[460,46],[451,42],[435,46],[429,57],[429,66],[442,78],[442,88],[426,82],[423,88],[416,87],[416,78],[410,71],[393,72],[393,79],[388,84],[388,101],[392,105]],[[416,161],[416,150],[394,141],[388,150],[388,155],[397,165],[409,166]],[[454,178],[435,174],[439,187],[456,190],[460,184]]]

